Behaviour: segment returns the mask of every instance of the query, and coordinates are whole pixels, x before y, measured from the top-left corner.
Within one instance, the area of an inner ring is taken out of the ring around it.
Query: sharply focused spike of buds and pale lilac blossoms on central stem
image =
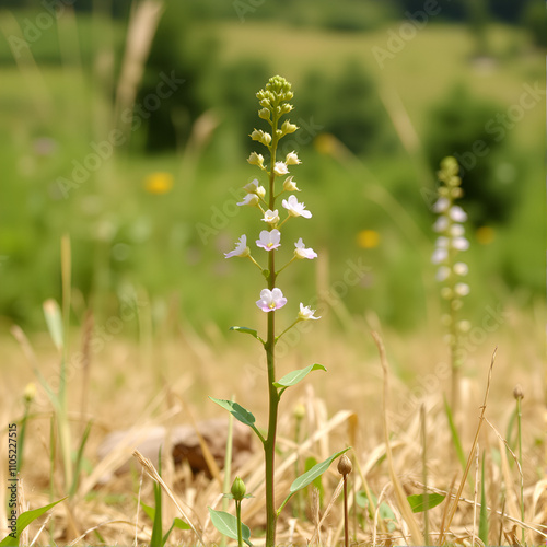
[[[289,114],[293,106],[289,103],[293,97],[291,84],[279,75],[270,78],[265,89],[260,90],[256,97],[260,105],[258,117],[266,120],[269,125],[269,130],[254,128],[249,135],[251,139],[266,148],[266,158],[259,151],[252,152],[247,159],[251,165],[256,165],[263,175],[267,175],[267,181],[260,183],[255,178],[244,186],[246,195],[237,205],[241,207],[252,207],[259,210],[260,220],[266,224],[266,230],[261,230],[256,246],[270,254],[268,264],[274,264],[272,254],[277,253],[282,246],[281,226],[298,217],[311,219],[312,213],[305,205],[298,200],[294,196],[295,191],[300,191],[294,181],[294,175],[290,173],[293,166],[300,165],[302,162],[295,151],[289,152],[284,158],[277,155],[279,140],[286,135],[293,133],[299,128],[289,119],[281,120],[283,116]],[[268,158],[269,155],[269,158]],[[281,181],[280,181],[281,179]],[[281,208],[276,208],[276,199],[282,194],[289,194],[281,200]],[[283,211],[284,210],[284,211]],[[281,212],[280,214],[280,211]],[[235,248],[225,253],[226,258],[241,257],[249,258],[264,275],[275,274],[277,277],[289,264],[295,259],[312,260],[317,257],[317,253],[313,248],[304,245],[302,237],[294,243],[293,256],[278,271],[269,272],[268,267],[263,267],[259,261],[252,255],[251,248],[247,246],[247,236],[243,234],[240,237]],[[271,258],[271,260],[270,260]],[[278,287],[264,289],[260,292],[259,300],[256,305],[264,312],[275,312],[287,304],[287,299],[283,296],[281,289]],[[318,319],[314,316],[314,311],[310,307],[300,304],[296,322],[307,319]]]

